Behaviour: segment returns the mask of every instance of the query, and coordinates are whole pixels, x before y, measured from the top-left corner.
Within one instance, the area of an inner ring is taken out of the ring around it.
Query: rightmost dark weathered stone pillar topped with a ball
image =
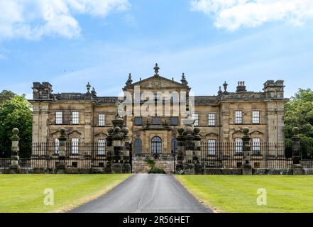
[[[292,172],[293,175],[302,175],[303,169],[300,164],[301,151],[300,151],[300,129],[295,127],[292,128]]]

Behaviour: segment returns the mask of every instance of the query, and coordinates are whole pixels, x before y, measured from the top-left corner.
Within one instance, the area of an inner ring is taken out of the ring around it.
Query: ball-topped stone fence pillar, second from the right
[[[252,175],[249,128],[243,128],[243,175]]]

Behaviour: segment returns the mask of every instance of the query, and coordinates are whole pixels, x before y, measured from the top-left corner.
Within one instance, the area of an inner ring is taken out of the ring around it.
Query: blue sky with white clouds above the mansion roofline
[[[284,79],[287,97],[313,84],[312,1],[11,2],[0,0],[0,89],[28,98],[44,81],[56,93],[90,82],[99,96],[117,96],[129,72],[149,77],[155,62],[164,77],[185,72],[196,95],[216,94],[225,80],[229,91],[246,81],[258,92]]]

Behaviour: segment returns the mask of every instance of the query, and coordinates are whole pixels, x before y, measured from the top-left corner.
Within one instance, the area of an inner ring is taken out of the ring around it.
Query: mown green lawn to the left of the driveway
[[[62,212],[109,192],[131,175],[0,175],[0,213]],[[54,206],[45,206],[45,189]]]

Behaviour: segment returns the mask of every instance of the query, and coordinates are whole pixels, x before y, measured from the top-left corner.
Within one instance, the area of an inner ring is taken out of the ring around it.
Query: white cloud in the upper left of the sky
[[[77,14],[105,17],[129,6],[128,0],[0,0],[0,38],[73,38],[81,30]]]

